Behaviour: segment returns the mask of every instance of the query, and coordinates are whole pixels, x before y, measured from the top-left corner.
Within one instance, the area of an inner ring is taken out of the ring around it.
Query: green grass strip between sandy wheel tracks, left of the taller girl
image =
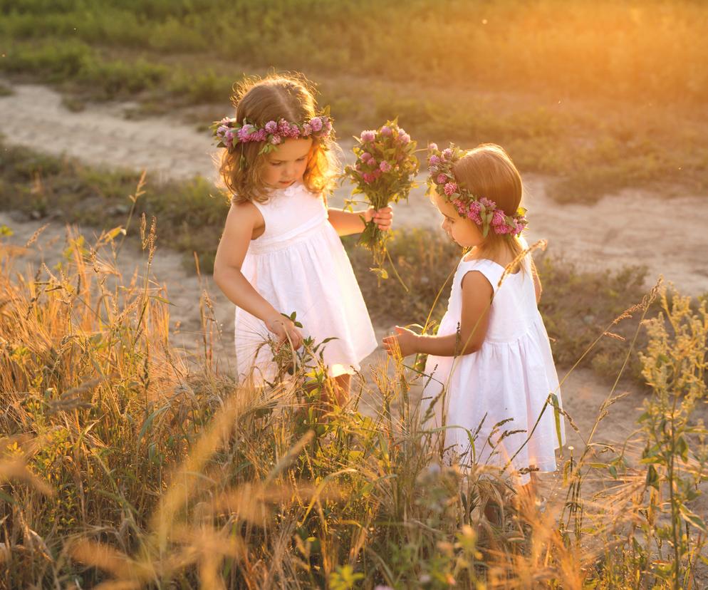
[[[125,223],[140,175],[61,160],[25,148],[9,148],[0,156],[0,202],[35,218],[57,217],[90,226]],[[202,268],[211,271],[228,211],[227,199],[207,180],[152,184],[137,200],[135,213],[155,216],[160,240],[184,252],[199,253]],[[199,228],[198,231],[194,229]]]

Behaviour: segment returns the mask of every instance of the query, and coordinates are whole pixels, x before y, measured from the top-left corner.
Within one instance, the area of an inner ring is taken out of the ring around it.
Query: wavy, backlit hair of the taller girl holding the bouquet
[[[304,76],[271,75],[247,78],[231,96],[236,108],[236,120],[265,125],[281,118],[288,123],[303,123],[316,116],[315,90]],[[313,193],[326,197],[333,189],[339,163],[333,153],[334,133],[328,138],[313,138],[303,175],[305,186]],[[261,142],[241,143],[236,150],[223,150],[219,175],[231,193],[232,202],[266,202],[269,193],[261,173],[265,155],[259,154]],[[241,165],[241,157],[244,165]]]

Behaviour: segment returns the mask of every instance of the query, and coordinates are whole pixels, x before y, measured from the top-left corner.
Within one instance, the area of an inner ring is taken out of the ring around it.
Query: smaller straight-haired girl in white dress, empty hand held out
[[[426,427],[445,425],[447,450],[467,464],[511,461],[526,485],[530,470],[556,470],[564,430],[561,422],[556,431],[553,405],[546,404],[551,393],[560,403],[561,394],[538,312],[541,283],[530,254],[512,264],[526,248],[521,176],[498,145],[441,152],[433,144],[431,151],[428,183],[442,229],[469,251],[437,335],[397,326],[384,346],[392,355],[429,355],[421,416],[432,418]]]

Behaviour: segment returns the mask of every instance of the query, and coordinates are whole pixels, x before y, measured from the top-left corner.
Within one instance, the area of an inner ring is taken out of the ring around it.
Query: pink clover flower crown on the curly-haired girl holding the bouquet
[[[239,123],[233,117],[224,117],[220,121],[214,121],[212,131],[219,148],[227,148],[231,152],[239,143],[259,141],[264,142],[259,153],[267,154],[288,138],[328,138],[332,133],[332,118],[328,113],[323,113],[304,123],[288,123],[285,119],[280,119],[268,121],[265,125],[254,125],[247,119]]]

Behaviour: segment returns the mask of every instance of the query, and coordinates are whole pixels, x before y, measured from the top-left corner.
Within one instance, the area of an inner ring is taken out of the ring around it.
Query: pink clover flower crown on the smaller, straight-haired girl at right
[[[473,222],[481,226],[483,237],[489,234],[490,227],[495,234],[518,236],[529,224],[524,207],[516,209],[514,215],[507,215],[502,209],[496,207],[494,201],[490,201],[486,197],[477,197],[457,184],[457,180],[452,174],[452,166],[464,157],[466,152],[452,143],[442,152],[437,149],[436,144],[431,143],[428,146],[428,152],[428,170],[430,171],[427,180],[428,187],[437,192],[443,200],[453,205],[460,217],[472,219]]]

